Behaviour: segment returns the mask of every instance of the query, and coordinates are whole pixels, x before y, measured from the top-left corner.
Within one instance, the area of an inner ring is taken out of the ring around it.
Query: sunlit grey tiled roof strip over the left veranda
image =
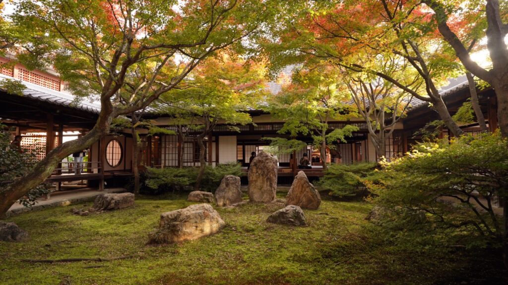
[[[0,74],[0,80],[11,79],[17,80],[13,77]],[[67,106],[82,111],[99,114],[101,112],[101,105],[94,102],[88,102],[85,100],[76,100],[75,96],[69,93],[56,91],[40,85],[29,83],[26,81],[20,81],[26,87],[23,90],[23,96],[28,98],[37,99],[40,101]]]

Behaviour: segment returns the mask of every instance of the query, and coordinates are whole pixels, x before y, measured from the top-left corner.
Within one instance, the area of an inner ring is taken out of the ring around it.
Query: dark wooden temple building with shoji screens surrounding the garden
[[[0,62],[7,61],[0,58]],[[97,120],[100,105],[94,102],[76,100],[71,94],[65,92],[65,83],[56,73],[27,70],[17,64],[12,69],[1,69],[0,80],[18,79],[26,86],[22,94],[10,94],[0,90],[0,123],[11,127],[14,135],[21,135],[22,145],[30,147],[35,144],[45,151],[51,151],[55,146],[66,140],[66,137],[75,137],[79,133],[90,130]],[[450,112],[453,114],[469,98],[468,84],[465,79],[458,78],[450,81],[449,86],[442,88],[441,94]],[[493,90],[479,90],[482,111],[491,130],[497,128],[496,98]],[[425,124],[437,120],[438,115],[423,101],[412,101],[412,108],[407,116],[396,125],[396,130],[386,143],[386,157],[402,155],[410,150],[414,142],[421,139],[417,134]],[[265,149],[269,142],[263,137],[283,136],[277,131],[282,128],[283,121],[274,120],[270,114],[261,110],[249,111],[255,124],[238,126],[238,131],[232,131],[227,125],[217,125],[206,138],[206,161],[211,165],[238,162],[245,168],[251,152]],[[171,118],[160,117],[155,114],[146,114],[156,125],[172,129]],[[361,161],[375,161],[375,151],[363,119],[351,121],[330,122],[330,129],[342,128],[345,124],[353,124],[359,128],[347,143],[338,143],[340,163],[352,164]],[[462,126],[465,132],[478,132],[478,124]],[[179,139],[177,135],[146,135],[140,130],[141,148],[138,167],[177,167],[199,166],[199,147],[192,138]],[[442,135],[448,135],[442,129]],[[108,185],[121,183],[132,176],[133,150],[132,135],[129,130],[101,138],[89,149],[86,171],[74,174],[73,163],[62,161],[48,182],[62,182],[87,180],[90,185]],[[308,146],[293,155],[279,155],[279,176],[291,178],[295,175],[297,159],[306,153],[312,159],[312,168],[306,169],[308,176],[323,175],[322,159],[331,162],[327,153],[321,157],[319,150],[311,147],[310,137],[298,137],[308,142]],[[180,147],[183,146],[183,147]],[[183,153],[182,153],[183,152]],[[183,156],[183,161],[178,159]]]

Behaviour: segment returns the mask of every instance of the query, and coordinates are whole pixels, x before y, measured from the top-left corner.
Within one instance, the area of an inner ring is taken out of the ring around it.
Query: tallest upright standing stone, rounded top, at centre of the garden
[[[249,167],[248,194],[251,202],[268,203],[275,200],[277,191],[277,159],[260,152]]]

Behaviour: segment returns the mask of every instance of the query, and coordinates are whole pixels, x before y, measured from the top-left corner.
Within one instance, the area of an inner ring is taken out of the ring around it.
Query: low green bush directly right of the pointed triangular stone
[[[366,193],[363,179],[376,169],[376,163],[362,162],[351,165],[332,164],[317,185],[339,198],[356,197]]]

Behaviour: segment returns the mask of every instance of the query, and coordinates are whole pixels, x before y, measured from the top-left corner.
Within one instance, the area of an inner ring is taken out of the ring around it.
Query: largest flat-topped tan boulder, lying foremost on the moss
[[[190,205],[161,214],[159,228],[149,234],[151,243],[197,239],[220,231],[226,223],[210,204]]]

